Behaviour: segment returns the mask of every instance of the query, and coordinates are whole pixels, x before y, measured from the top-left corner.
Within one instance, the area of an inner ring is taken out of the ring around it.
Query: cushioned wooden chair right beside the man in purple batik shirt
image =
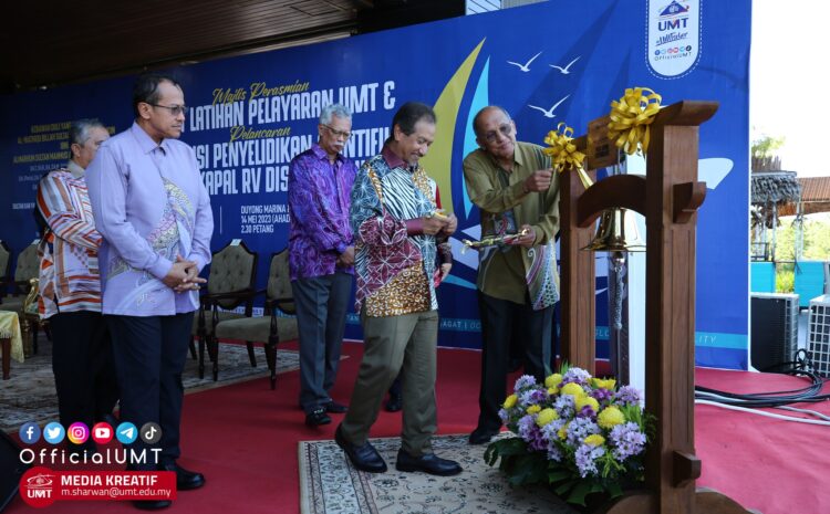
[[[258,291],[260,294],[263,291]],[[271,371],[271,389],[277,388],[277,344],[298,337],[297,318],[293,316],[294,297],[288,271],[288,249],[271,255],[266,293],[266,313],[261,317],[245,317],[220,322],[216,337],[261,342],[266,349],[268,369]]]

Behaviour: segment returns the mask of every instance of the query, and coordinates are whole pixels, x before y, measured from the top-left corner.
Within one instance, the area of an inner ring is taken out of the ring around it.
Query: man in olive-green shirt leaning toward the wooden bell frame
[[[480,209],[481,237],[519,234],[479,254],[480,413],[469,442],[483,444],[501,427],[513,333],[525,346],[526,373],[543,381],[549,371],[553,304],[559,300],[559,177],[542,147],[516,140],[516,123],[501,107],[479,111],[473,128],[479,148],[464,159],[464,179]]]

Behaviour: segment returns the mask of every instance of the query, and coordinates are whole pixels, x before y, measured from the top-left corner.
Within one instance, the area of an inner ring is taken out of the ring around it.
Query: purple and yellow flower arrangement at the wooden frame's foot
[[[511,484],[550,484],[569,503],[585,505],[591,493],[619,496],[644,480],[653,422],[641,403],[635,388],[618,389],[578,367],[564,365],[544,384],[525,375],[499,411],[513,437],[490,443],[485,461],[500,458]]]

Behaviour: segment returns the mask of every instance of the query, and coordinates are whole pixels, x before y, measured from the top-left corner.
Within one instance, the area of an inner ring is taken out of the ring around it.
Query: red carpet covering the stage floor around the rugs
[[[289,348],[295,346],[287,345]],[[347,402],[362,346],[345,344],[334,399]],[[442,349],[438,358],[438,427],[442,433],[469,432],[478,415],[479,353]],[[698,384],[734,391],[792,389],[801,380],[780,375],[698,369]],[[297,442],[333,439],[334,422],[309,429],[298,408],[297,371],[188,395],[183,420],[184,466],[207,476],[198,491],[178,494],[164,512],[299,512]],[[828,388],[826,388],[828,389]],[[799,406],[830,415],[830,406]],[[744,415],[708,406],[696,408],[697,455],[705,485],[765,514],[830,512],[830,430]],[[400,413],[382,412],[373,437],[400,433]],[[9,513],[30,512],[18,497]],[[121,502],[61,502],[44,512],[136,512]]]

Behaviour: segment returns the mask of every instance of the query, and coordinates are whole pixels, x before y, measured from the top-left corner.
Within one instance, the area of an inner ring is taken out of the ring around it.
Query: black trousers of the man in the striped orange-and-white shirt
[[[49,318],[49,324],[61,424],[69,427],[82,421],[92,428],[112,413],[118,400],[104,317],[90,311],[58,313]]]

